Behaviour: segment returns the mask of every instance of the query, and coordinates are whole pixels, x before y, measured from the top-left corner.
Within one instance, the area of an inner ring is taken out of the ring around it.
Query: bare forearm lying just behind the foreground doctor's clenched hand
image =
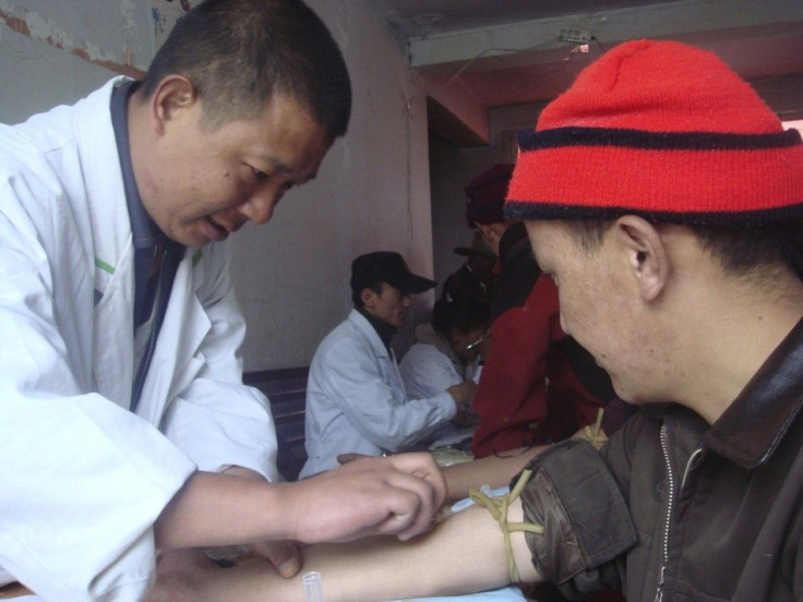
[[[500,456],[486,456],[444,468],[446,498],[456,502],[468,497],[470,489],[479,489],[482,485],[496,489],[508,484],[511,479],[543,449],[546,449],[543,446],[512,449]]]

